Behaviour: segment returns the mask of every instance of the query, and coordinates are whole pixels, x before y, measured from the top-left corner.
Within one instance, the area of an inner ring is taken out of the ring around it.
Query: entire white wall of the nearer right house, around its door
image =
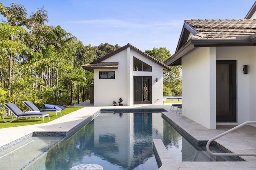
[[[217,124],[256,121],[256,47],[199,47],[182,57],[182,115],[216,128],[216,60],[237,61],[237,123]]]

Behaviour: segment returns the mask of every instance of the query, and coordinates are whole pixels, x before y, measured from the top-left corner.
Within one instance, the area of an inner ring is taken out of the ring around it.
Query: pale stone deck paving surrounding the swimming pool
[[[92,118],[100,109],[111,108],[164,108],[166,112],[163,112],[164,116],[170,119],[173,123],[178,125],[191,137],[197,141],[207,141],[212,137],[231,129],[234,126],[217,126],[216,130],[210,130],[198,123],[182,116],[182,114],[176,114],[175,111],[170,110],[170,105],[136,105],[136,106],[108,106],[108,107],[94,107],[90,103],[83,102],[76,106],[82,106],[84,108],[74,111],[68,115],[64,115],[54,121],[38,124],[27,125],[22,127],[11,127],[0,129],[0,151],[6,147],[14,145],[22,140],[24,137],[29,137],[33,132],[54,132],[54,133],[66,133],[72,131],[74,127],[84,122],[86,119]],[[256,153],[256,127],[246,125],[237,131],[229,133],[228,135],[217,139],[220,145],[226,147],[226,149],[235,153]],[[256,169],[256,156],[243,156],[242,158],[246,162],[174,162],[166,149],[163,147],[161,140],[154,140],[154,145],[159,154],[162,162],[162,166],[159,170],[255,170]]]

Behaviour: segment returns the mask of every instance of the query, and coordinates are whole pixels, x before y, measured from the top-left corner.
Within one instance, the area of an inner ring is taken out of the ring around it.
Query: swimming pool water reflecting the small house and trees
[[[34,142],[38,145],[40,140],[45,139],[44,147],[37,149],[38,153],[42,153],[40,156],[35,154],[31,164],[25,161],[23,163],[28,164],[25,166],[28,170],[69,170],[85,163],[99,164],[104,170],[156,170],[158,165],[153,153],[152,139],[162,139],[174,161],[227,160],[210,156],[201,147],[194,147],[164,121],[161,115],[100,113],[67,140],[50,138],[47,141],[46,138],[32,137],[29,140],[38,140]],[[62,141],[58,142],[59,140]],[[34,149],[32,148],[23,149],[23,157],[29,155]],[[25,153],[25,150],[30,152]],[[16,159],[20,160],[20,157],[22,156],[19,155]],[[11,161],[17,162],[15,159]]]

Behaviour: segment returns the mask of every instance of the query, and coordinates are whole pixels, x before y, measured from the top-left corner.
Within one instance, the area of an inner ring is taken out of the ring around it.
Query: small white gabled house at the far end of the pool
[[[82,66],[94,72],[94,106],[163,104],[163,69],[170,67],[127,45]]]

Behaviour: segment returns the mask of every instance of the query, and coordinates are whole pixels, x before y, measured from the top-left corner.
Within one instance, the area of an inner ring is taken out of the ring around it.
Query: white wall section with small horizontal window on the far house
[[[113,55],[104,62],[118,62],[117,70],[94,70],[94,106],[118,105],[119,98],[122,104],[127,105],[127,53],[126,50]],[[114,71],[115,79],[99,79],[100,71]]]

